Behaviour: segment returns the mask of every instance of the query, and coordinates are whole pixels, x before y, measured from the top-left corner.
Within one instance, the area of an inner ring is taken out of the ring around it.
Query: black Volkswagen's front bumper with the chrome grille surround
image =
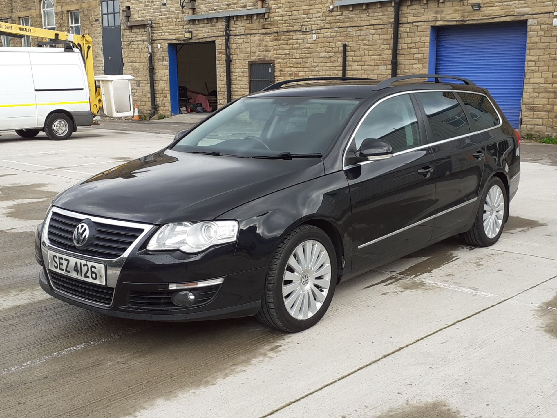
[[[57,216],[72,215],[92,222],[129,226],[120,222],[68,212],[53,208]],[[53,297],[94,312],[121,318],[143,320],[198,320],[255,315],[261,307],[266,268],[237,271],[232,268],[235,244],[222,245],[197,255],[179,251],[153,252],[145,249],[145,242],[153,234],[152,225],[133,225],[143,232],[114,260],[100,259],[79,252],[76,248],[56,244],[48,231],[52,211],[41,224],[35,237],[35,256],[42,266],[41,287]],[[75,222],[80,222],[75,220]],[[43,226],[44,225],[44,226]],[[56,221],[60,225],[60,221]],[[51,239],[49,239],[49,237]],[[91,284],[72,279],[58,271],[48,269],[48,251],[81,260],[106,265],[106,285]],[[223,278],[222,284],[196,289],[170,290],[170,284],[192,283]],[[172,295],[190,290],[196,294],[196,303],[189,307],[175,305]]]

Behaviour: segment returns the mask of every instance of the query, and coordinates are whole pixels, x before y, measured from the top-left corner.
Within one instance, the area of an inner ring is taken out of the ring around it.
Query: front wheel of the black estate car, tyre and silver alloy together
[[[287,332],[312,327],[333,299],[336,271],[336,252],[329,236],[312,225],[296,227],[273,255],[256,318]]]

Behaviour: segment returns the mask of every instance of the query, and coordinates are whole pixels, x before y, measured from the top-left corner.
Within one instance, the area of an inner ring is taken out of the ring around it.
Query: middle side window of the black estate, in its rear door
[[[469,134],[470,126],[466,114],[450,91],[428,91],[416,93],[426,111],[432,142]]]

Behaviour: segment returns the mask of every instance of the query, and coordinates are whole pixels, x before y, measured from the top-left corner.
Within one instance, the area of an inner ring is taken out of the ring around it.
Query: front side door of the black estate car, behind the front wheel
[[[351,164],[345,155],[353,218],[353,270],[431,239],[435,196],[434,158],[416,102],[399,94],[375,103],[360,121],[348,152],[366,138],[382,139],[393,156]]]

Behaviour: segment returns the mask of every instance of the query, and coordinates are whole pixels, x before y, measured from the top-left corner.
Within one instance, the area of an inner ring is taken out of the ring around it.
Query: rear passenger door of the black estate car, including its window
[[[416,93],[435,158],[433,238],[451,234],[475,213],[485,145],[470,128],[470,115],[452,91]]]

